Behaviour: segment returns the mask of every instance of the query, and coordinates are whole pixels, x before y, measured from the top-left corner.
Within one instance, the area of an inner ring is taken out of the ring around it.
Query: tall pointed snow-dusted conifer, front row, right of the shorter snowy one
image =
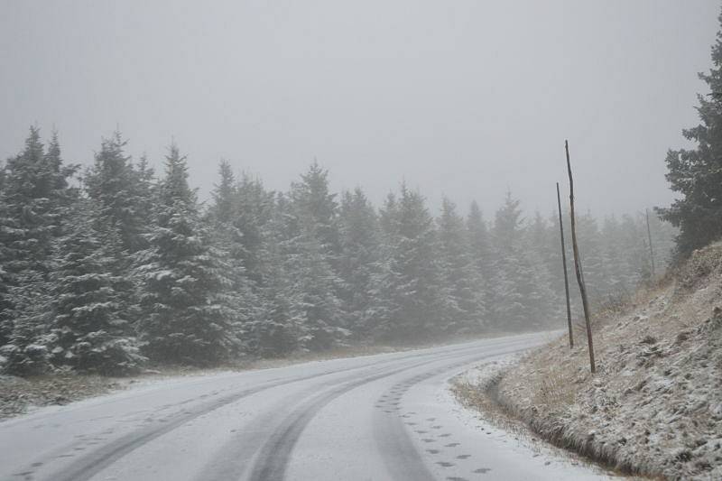
[[[140,254],[143,352],[155,362],[212,365],[238,346],[231,280],[223,253],[209,243],[188,184],[185,157],[171,145],[150,246]]]

